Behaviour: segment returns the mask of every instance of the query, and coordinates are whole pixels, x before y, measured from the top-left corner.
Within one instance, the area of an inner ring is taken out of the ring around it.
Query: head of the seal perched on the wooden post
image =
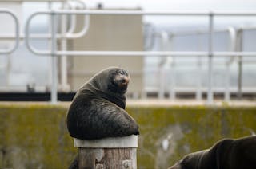
[[[92,82],[102,92],[125,94],[130,76],[125,69],[110,67],[97,73]]]

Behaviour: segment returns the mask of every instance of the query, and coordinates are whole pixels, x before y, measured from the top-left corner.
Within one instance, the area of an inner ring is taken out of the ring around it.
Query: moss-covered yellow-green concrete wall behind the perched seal
[[[66,131],[69,104],[0,104],[0,168],[66,168],[77,150]],[[138,168],[166,168],[223,137],[256,131],[256,107],[128,105],[137,120]]]

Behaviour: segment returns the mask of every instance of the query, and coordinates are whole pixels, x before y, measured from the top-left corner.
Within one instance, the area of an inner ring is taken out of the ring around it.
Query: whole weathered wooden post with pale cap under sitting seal
[[[79,169],[136,169],[138,136],[109,137],[101,140],[78,140]]]

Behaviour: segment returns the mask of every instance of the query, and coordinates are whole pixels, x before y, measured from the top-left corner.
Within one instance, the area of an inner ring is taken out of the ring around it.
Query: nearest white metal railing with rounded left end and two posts
[[[30,22],[32,18],[39,14],[49,14],[51,16],[51,39],[52,43],[51,50],[38,50],[34,49],[30,44]],[[208,51],[206,52],[182,52],[182,51],[59,51],[56,49],[56,25],[54,18],[56,15],[62,14],[82,14],[82,15],[92,15],[92,14],[111,14],[111,15],[169,15],[169,16],[202,16],[209,18],[209,38],[208,38]],[[254,57],[256,52],[215,52],[213,51],[213,34],[214,34],[214,17],[222,16],[256,16],[256,12],[213,12],[213,11],[141,11],[141,10],[51,10],[51,11],[39,11],[31,14],[26,22],[26,45],[32,53],[38,55],[51,55],[53,58],[53,69],[52,69],[52,90],[51,90],[51,102],[57,102],[57,60],[56,56],[208,56],[208,91],[207,91],[207,103],[213,104],[213,91],[212,91],[212,73],[213,73],[213,57],[215,56],[248,56]]]

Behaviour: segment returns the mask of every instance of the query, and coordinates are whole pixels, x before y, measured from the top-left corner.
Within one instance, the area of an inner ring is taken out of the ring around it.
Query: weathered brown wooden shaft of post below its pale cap
[[[79,169],[136,169],[136,148],[79,148]]]

